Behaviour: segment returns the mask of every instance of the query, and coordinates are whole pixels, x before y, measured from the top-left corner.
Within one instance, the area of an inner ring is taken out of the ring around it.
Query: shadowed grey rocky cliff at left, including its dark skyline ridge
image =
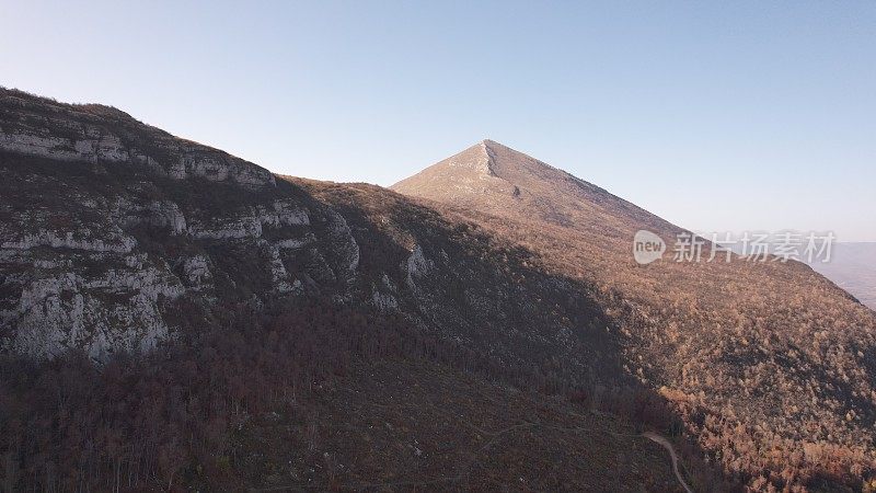
[[[0,92],[0,169],[8,352],[149,349],[174,335],[182,301],[208,314],[296,296],[358,259],[327,207],[113,108]]]

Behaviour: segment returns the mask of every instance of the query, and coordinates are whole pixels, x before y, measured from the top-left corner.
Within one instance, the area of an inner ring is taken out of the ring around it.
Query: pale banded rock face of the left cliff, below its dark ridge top
[[[149,174],[118,181],[95,172],[102,164],[53,169],[56,161],[10,153],[0,162],[8,351],[42,358],[76,347],[104,359],[150,348],[171,335],[165,313],[181,298],[209,311],[295,294],[313,278],[348,275],[358,255],[343,220],[312,200],[283,197],[273,184],[228,210],[206,209],[178,202],[210,193],[204,180],[174,188],[173,197]],[[331,241],[309,248],[318,234]],[[290,273],[287,264],[302,268]]]

